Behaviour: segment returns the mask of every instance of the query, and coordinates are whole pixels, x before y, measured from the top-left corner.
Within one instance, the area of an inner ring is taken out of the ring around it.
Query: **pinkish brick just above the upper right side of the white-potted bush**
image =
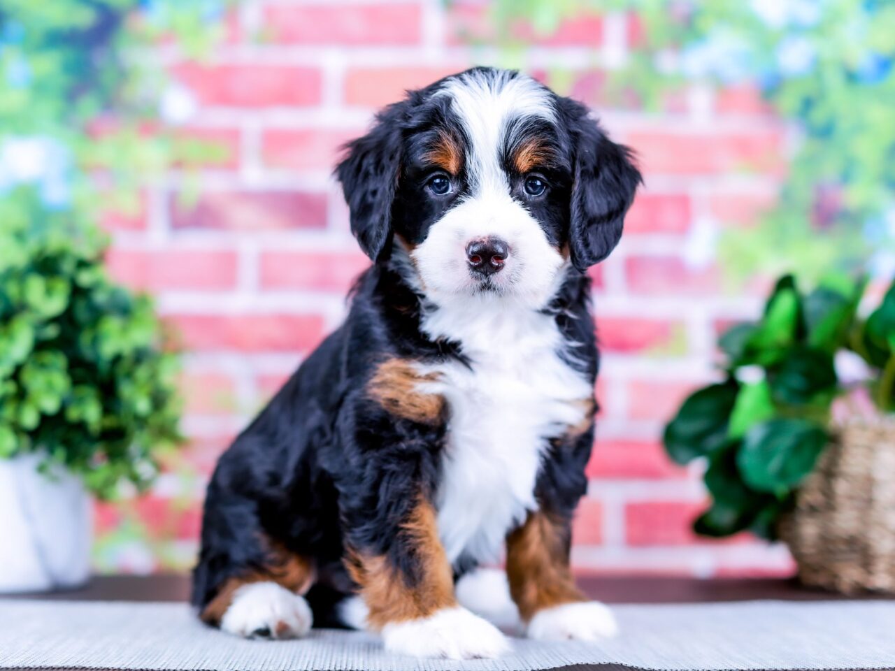
[[[111,248],[109,274],[135,289],[232,289],[236,285],[234,251],[135,251]]]

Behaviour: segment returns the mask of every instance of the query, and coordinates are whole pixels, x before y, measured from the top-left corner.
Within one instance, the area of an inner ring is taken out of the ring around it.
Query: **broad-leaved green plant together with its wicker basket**
[[[783,539],[803,582],[845,591],[895,590],[895,284],[859,319],[865,286],[829,276],[804,294],[782,277],[758,323],[720,336],[723,380],[664,436],[675,462],[707,462],[695,531]],[[849,357],[857,381],[838,373]]]

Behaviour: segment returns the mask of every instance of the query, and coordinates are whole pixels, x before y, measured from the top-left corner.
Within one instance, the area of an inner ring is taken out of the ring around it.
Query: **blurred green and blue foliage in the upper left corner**
[[[219,13],[226,4],[214,5]],[[59,148],[56,184],[39,184],[47,206],[86,221],[109,210],[136,214],[138,189],[168,166],[189,170],[219,156],[214,144],[177,138],[159,120],[170,82],[158,50],[207,54],[224,31],[211,5],[0,0],[0,153],[6,139]],[[16,176],[0,166],[0,193]]]

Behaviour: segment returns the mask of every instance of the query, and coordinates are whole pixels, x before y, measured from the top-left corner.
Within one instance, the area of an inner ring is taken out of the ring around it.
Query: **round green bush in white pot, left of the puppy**
[[[89,574],[90,499],[146,488],[178,440],[175,359],[98,234],[30,191],[0,200],[0,591]]]

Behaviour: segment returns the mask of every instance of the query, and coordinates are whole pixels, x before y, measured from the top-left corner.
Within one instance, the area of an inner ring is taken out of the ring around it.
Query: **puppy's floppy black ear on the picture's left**
[[[403,103],[376,116],[371,132],[345,145],[336,168],[351,213],[351,231],[374,261],[391,249],[391,208],[401,170],[400,115]]]

